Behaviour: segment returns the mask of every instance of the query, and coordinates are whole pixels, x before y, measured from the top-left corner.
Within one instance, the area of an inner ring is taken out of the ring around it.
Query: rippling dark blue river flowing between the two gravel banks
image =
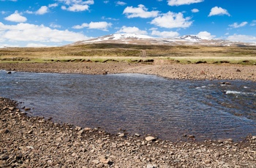
[[[197,140],[256,134],[256,85],[249,81],[0,71],[0,96],[31,107],[29,115],[113,134],[125,129],[173,141],[184,134]]]

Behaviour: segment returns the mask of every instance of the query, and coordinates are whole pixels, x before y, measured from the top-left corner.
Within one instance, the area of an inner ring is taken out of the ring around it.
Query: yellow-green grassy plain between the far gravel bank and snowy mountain
[[[146,56],[143,56],[146,52]],[[0,62],[175,61],[181,64],[256,64],[256,46],[89,44],[63,47],[0,48]]]

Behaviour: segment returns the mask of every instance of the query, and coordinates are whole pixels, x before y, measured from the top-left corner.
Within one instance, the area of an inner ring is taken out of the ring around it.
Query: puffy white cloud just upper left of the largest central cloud
[[[154,18],[157,17],[159,11],[148,12],[148,9],[139,4],[138,7],[126,7],[123,14],[127,15],[127,18]]]

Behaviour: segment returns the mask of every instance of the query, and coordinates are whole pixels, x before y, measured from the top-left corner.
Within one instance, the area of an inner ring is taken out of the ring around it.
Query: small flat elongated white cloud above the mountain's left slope
[[[108,28],[112,26],[112,23],[108,22],[91,22],[83,23],[81,25],[73,26],[72,28],[81,29],[81,28],[90,28],[90,29],[99,29],[102,31],[108,31]]]

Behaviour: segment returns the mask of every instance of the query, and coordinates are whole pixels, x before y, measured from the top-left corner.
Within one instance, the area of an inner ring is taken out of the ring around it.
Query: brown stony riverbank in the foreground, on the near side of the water
[[[29,117],[0,98],[0,167],[255,167],[256,137],[170,142]],[[138,135],[137,135],[138,136]]]

